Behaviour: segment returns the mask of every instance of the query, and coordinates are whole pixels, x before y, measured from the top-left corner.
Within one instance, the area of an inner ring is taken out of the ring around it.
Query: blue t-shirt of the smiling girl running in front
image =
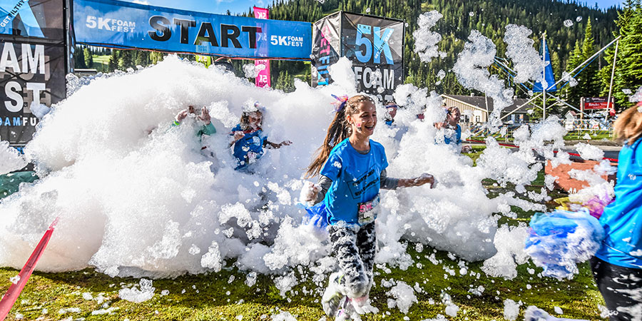
[[[388,167],[384,147],[370,141],[370,151],[361,154],[346,138],[332,148],[321,168],[321,175],[332,180],[324,202],[330,224],[345,221],[357,224],[359,203],[374,199],[379,194],[381,171]]]

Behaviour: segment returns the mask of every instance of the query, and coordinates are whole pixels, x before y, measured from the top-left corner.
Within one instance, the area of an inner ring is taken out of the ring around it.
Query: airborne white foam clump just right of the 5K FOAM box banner
[[[424,12],[417,19],[419,28],[412,32],[414,37],[414,52],[419,55],[423,62],[429,62],[432,58],[437,56],[445,56],[445,53],[439,51],[437,43],[442,40],[442,35],[437,32],[430,31],[432,27],[437,24],[439,19],[442,19],[442,14],[438,11]]]

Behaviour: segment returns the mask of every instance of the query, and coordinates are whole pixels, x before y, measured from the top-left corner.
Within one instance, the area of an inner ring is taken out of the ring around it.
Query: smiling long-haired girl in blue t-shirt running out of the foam
[[[384,147],[370,140],[377,125],[374,102],[363,95],[337,99],[341,103],[335,118],[317,157],[307,168],[308,177],[317,174],[321,177],[305,200],[322,201],[325,205],[332,253],[340,272],[330,275],[322,307],[328,316],[338,317],[377,312],[370,305],[368,292],[372,286],[376,249],[374,220],[379,189],[426,183],[432,186],[434,178],[428,174],[412,179],[388,178]]]

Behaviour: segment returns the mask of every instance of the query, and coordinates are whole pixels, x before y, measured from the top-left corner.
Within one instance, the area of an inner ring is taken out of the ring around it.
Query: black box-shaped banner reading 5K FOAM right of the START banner
[[[317,21],[312,39],[312,86],[332,82],[327,66],[340,56],[352,61],[357,91],[391,100],[404,81],[404,21],[340,11]]]

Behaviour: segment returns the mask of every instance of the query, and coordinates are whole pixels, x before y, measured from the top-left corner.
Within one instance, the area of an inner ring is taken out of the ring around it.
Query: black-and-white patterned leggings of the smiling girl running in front
[[[377,238],[374,222],[360,227],[328,225],[332,254],[339,262],[343,277],[339,281],[341,292],[347,297],[363,297],[372,285],[372,268]]]

